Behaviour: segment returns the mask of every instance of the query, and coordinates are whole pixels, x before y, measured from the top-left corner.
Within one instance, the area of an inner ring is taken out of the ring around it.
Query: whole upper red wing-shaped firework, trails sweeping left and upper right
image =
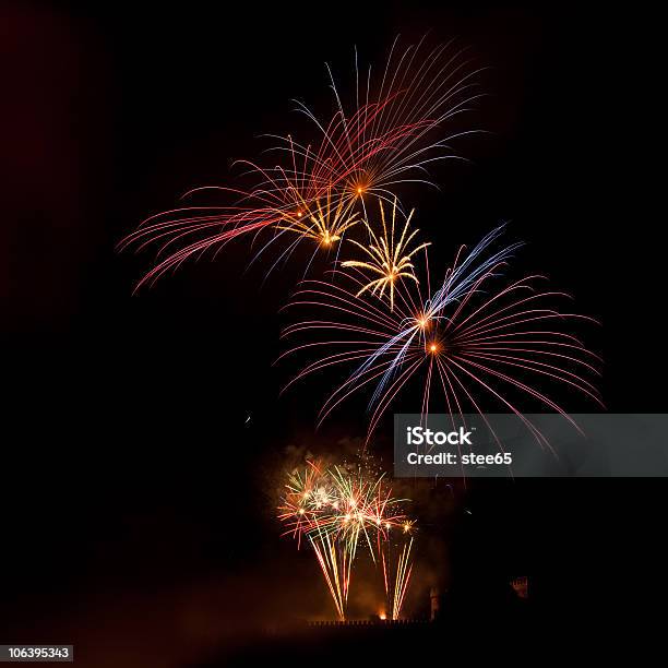
[[[234,239],[257,237],[265,230],[271,236],[255,259],[290,232],[301,235],[300,240],[311,239],[327,247],[351,226],[359,213],[353,210],[363,211],[365,194],[392,202],[394,189],[402,182],[433,186],[416,175],[425,175],[431,162],[460,157],[451,153],[448,143],[468,132],[448,134],[444,127],[479,97],[473,92],[479,70],[470,70],[464,50],[455,51],[452,43],[427,51],[420,40],[402,52],[398,38],[380,84],[372,82],[369,68],[360,90],[357,53],[355,64],[356,92],[349,112],[329,68],[336,106],[330,121],[318,120],[306,105],[298,103],[298,109],[321,134],[314,147],[289,134],[265,135],[278,142],[269,152],[277,154],[279,160],[272,166],[238,160],[247,169],[242,177],[251,179],[250,187],[204,187],[184,195],[217,193],[224,200],[234,199],[232,203],[166,211],[145,219],[120,241],[120,250],[156,248],[155,265],[138,288],[153,284],[189,259],[200,259],[208,252],[215,258]],[[324,200],[331,205],[323,210]],[[350,218],[341,215],[343,212]],[[336,220],[329,219],[332,214]],[[298,241],[290,240],[279,260],[287,261]]]

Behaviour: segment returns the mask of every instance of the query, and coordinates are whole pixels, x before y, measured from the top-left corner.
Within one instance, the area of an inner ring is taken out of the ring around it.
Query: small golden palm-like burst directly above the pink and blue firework
[[[359,250],[368,255],[369,261],[362,262],[359,260],[346,260],[343,263],[343,266],[346,269],[360,269],[365,272],[371,272],[372,274],[380,276],[378,278],[373,278],[367,283],[367,285],[362,286],[362,288],[358,290],[356,297],[359,297],[367,290],[370,290],[372,295],[378,295],[382,298],[385,290],[387,290],[390,298],[390,310],[393,311],[396,284],[404,278],[410,278],[411,281],[415,281],[415,283],[419,283],[414,273],[415,267],[413,265],[411,258],[430,244],[422,243],[411,251],[408,251],[408,247],[413,241],[413,238],[419,231],[416,229],[408,234],[408,225],[410,224],[410,218],[413,217],[415,210],[408,214],[406,223],[404,224],[404,229],[397,239],[395,237],[396,199],[394,200],[394,204],[392,206],[392,226],[390,228],[387,228],[387,224],[385,222],[385,210],[383,207],[382,200],[379,201],[379,205],[383,226],[382,236],[377,236],[369,223],[365,222],[370,238],[369,244],[363,246],[355,239],[351,240],[351,242]]]

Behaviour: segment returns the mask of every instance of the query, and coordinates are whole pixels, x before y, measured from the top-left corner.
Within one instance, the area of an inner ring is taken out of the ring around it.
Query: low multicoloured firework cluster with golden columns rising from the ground
[[[346,618],[350,581],[359,548],[382,569],[392,619],[398,619],[410,580],[414,522],[392,497],[383,475],[357,466],[324,467],[309,461],[288,475],[278,518],[298,547],[308,540],[341,620]],[[393,545],[401,541],[398,559]],[[396,563],[394,563],[396,561]]]

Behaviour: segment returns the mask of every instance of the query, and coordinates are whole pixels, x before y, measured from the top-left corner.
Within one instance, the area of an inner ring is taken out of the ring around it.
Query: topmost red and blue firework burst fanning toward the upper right
[[[355,95],[349,104],[344,103],[327,67],[336,103],[329,123],[299,104],[321,134],[312,160],[315,174],[336,183],[344,196],[361,199],[373,193],[392,200],[398,183],[433,186],[427,167],[437,160],[462,159],[452,153],[450,142],[475,132],[448,132],[453,119],[469,111],[480,97],[480,69],[472,67],[466,49],[455,48],[454,41],[429,49],[424,38],[402,48],[399,41],[394,40],[377,79],[371,76],[371,65],[360,71],[355,52]],[[310,156],[309,147],[297,150]]]

